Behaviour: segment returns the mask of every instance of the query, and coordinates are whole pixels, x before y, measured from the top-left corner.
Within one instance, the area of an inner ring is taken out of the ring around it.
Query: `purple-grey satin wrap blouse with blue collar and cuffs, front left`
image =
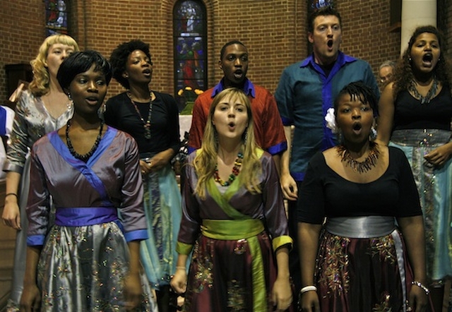
[[[126,240],[147,238],[138,148],[131,136],[108,127],[85,163],[54,131],[37,140],[31,157],[28,245],[44,243],[50,196],[57,210],[119,208]]]

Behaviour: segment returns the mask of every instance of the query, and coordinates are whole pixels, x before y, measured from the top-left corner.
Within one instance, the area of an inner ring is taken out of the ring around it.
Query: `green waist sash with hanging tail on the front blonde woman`
[[[203,220],[201,233],[210,239],[234,241],[246,239],[251,253],[251,271],[253,276],[253,311],[266,312],[267,290],[263,274],[261,246],[257,234],[263,231],[263,223],[257,219],[245,220]]]

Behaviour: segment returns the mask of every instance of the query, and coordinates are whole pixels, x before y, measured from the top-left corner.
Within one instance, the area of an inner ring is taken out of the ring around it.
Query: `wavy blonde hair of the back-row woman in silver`
[[[78,51],[76,40],[68,35],[52,35],[42,42],[36,58],[30,61],[33,70],[33,80],[28,86],[28,90],[30,90],[35,97],[40,97],[49,92],[50,77],[45,64],[50,47],[58,43],[69,45],[70,47],[73,47],[75,51]]]

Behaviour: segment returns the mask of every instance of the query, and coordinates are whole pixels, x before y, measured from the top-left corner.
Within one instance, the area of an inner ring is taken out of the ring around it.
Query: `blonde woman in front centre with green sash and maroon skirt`
[[[189,155],[177,270],[184,311],[291,307],[288,236],[275,163],[258,148],[251,104],[229,88],[213,100],[201,149]],[[187,279],[186,264],[191,265]]]

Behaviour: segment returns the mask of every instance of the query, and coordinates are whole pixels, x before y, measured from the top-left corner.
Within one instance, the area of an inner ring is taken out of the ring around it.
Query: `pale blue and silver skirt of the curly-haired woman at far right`
[[[424,155],[451,139],[451,131],[394,131],[391,145],[400,148],[410,162],[424,216],[427,277],[444,282],[452,277],[452,159],[441,167],[424,160]]]

